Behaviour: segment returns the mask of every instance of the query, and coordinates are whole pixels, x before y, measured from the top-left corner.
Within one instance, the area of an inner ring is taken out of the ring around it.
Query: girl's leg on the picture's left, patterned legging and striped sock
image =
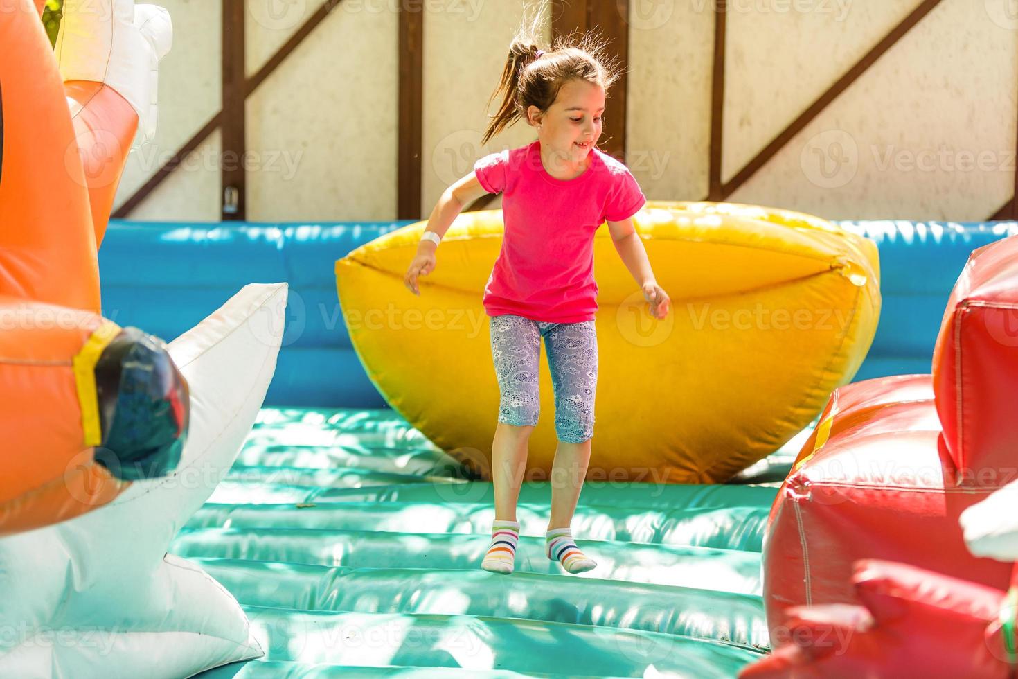
[[[492,442],[495,523],[492,544],[480,566],[485,570],[511,573],[519,539],[516,502],[526,467],[527,442],[540,414],[541,335],[532,321],[506,315],[492,318],[491,337],[501,396]]]

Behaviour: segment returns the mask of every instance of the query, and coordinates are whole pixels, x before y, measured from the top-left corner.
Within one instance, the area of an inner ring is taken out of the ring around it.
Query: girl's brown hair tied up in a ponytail
[[[544,54],[539,54],[541,49],[533,38],[539,22],[540,16],[529,21],[524,19],[509,46],[502,78],[488,99],[490,106],[501,93],[502,103],[498,113],[488,116],[482,146],[516,120],[526,120],[527,107],[536,106],[542,113],[547,111],[569,80],[600,84],[607,97],[609,88],[621,74],[616,59],[606,58],[608,44],[597,34],[560,36]]]

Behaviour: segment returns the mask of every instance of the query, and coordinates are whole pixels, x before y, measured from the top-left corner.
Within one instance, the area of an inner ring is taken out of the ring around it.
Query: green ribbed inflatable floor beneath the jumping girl
[[[742,480],[780,478],[781,453]],[[775,494],[589,482],[572,527],[598,567],[569,575],[544,552],[550,486],[527,484],[506,576],[479,568],[491,484],[392,410],[265,409],[170,551],[233,593],[266,652],[203,679],[733,677],[768,648]]]

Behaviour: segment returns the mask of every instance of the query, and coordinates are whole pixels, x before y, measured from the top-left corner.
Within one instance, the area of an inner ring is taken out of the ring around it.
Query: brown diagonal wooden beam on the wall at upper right
[[[923,19],[942,0],[923,0],[912,12],[896,25],[887,36],[876,44],[873,49],[862,57],[848,72],[842,75],[837,82],[825,92],[819,99],[813,102],[792,124],[786,127],[771,144],[760,151],[755,158],[742,168],[732,180],[722,186],[721,200],[727,200],[742,184],[746,183],[753,174],[764,165],[774,158],[781,149],[787,145],[792,137],[802,131],[806,125],[813,121],[824,109],[835,99],[845,92],[855,80],[862,75],[873,63],[884,54],[894,47],[902,37]]]

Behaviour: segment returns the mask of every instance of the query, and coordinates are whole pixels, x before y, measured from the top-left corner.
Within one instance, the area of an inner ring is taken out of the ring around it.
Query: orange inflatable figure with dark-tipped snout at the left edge
[[[62,81],[38,2],[0,9],[3,535],[171,469],[187,393],[161,342],[100,315],[96,252],[137,114],[102,82]]]

